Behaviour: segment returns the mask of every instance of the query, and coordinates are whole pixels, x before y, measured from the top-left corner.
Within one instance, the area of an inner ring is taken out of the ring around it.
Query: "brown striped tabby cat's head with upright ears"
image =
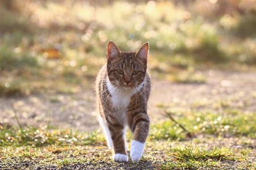
[[[113,85],[137,87],[145,78],[147,70],[148,42],[137,52],[121,52],[109,41],[106,53],[108,77]]]

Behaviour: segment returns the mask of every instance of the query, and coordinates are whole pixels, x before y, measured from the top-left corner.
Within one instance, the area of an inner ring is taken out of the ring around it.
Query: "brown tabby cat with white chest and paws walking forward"
[[[141,159],[148,135],[150,119],[147,100],[150,76],[147,73],[149,44],[137,52],[121,52],[114,42],[108,42],[106,64],[96,78],[97,111],[109,148],[116,162],[127,162],[126,127],[134,134],[130,157]]]

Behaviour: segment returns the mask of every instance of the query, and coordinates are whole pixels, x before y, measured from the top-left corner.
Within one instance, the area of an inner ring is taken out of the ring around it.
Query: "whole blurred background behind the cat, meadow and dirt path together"
[[[254,114],[255,0],[2,0],[0,128],[97,130],[94,81],[110,40],[125,52],[150,43],[152,122],[164,111]]]

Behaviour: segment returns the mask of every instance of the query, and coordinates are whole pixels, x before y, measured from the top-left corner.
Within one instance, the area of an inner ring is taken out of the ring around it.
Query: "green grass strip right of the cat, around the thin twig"
[[[192,134],[232,134],[237,137],[242,135],[256,138],[255,112],[242,112],[236,109],[227,109],[222,114],[209,109],[203,111],[179,109],[174,112],[170,109],[167,112],[171,113]],[[160,122],[160,124],[152,125],[150,138],[178,140],[187,138],[187,131],[181,129],[175,122],[171,120]]]

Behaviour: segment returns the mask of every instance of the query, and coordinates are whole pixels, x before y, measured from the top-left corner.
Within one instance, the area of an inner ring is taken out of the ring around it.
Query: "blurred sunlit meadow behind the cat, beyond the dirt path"
[[[256,1],[2,0],[0,95],[93,88],[110,40],[123,51],[150,42],[151,74],[171,82],[204,81],[196,70],[247,71]]]

